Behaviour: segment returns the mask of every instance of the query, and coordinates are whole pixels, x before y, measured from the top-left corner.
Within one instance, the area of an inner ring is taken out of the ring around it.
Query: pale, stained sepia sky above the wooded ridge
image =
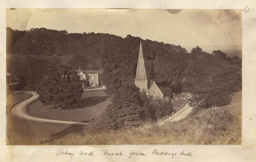
[[[131,34],[182,47],[242,45],[240,10],[7,9],[7,27]]]

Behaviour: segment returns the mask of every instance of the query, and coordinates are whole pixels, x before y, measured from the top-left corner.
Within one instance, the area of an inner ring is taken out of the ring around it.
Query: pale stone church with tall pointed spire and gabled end
[[[163,93],[157,86],[155,80],[154,81],[147,80],[141,41],[140,41],[139,57],[137,62],[136,77],[134,81],[135,81],[135,85],[138,88],[140,88],[140,91],[141,92],[144,91],[147,96],[150,96],[153,99],[163,99]]]

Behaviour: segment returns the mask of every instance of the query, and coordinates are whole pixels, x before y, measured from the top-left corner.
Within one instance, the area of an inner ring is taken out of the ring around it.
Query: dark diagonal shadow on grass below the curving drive
[[[88,122],[88,121],[82,121],[82,122]],[[44,142],[41,142],[42,145],[44,144],[49,144],[52,145],[52,143],[59,139],[62,138],[63,136],[70,134],[70,133],[78,133],[80,131],[84,130],[84,125],[71,125],[68,128],[65,128],[64,130],[57,132],[57,133],[53,133],[51,134],[48,138],[48,140],[45,140]],[[63,145],[69,145],[67,144],[68,141],[63,141]]]

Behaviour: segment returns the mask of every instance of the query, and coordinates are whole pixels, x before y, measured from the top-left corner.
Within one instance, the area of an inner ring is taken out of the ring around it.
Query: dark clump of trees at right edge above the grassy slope
[[[221,74],[200,80],[191,92],[191,101],[195,104],[204,100],[200,107],[228,105],[233,92],[242,89],[242,68],[227,65]]]

